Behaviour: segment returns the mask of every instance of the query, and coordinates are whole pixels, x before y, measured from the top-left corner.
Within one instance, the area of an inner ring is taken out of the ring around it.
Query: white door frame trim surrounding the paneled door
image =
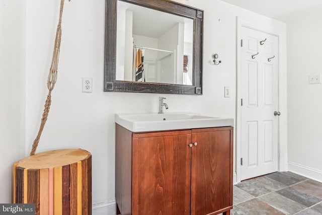
[[[252,28],[258,31],[262,31],[267,34],[271,34],[278,37],[278,50],[279,50],[279,171],[287,171],[287,74],[286,74],[286,24],[279,21],[267,19],[265,22],[257,23],[236,17],[236,121],[235,121],[235,158],[236,158],[236,181],[240,182],[240,140],[241,140],[241,95],[240,95],[240,74],[241,74],[241,59],[240,59],[240,41],[241,41],[241,27]]]

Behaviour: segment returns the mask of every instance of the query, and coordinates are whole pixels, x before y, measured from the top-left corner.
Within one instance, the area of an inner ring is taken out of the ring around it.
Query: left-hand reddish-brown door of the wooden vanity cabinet
[[[191,131],[133,134],[132,214],[189,215]]]

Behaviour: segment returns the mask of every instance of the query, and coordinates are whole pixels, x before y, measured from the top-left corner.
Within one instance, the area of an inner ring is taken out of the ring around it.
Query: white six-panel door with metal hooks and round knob
[[[240,179],[245,180],[278,171],[278,37],[241,27],[241,38]]]

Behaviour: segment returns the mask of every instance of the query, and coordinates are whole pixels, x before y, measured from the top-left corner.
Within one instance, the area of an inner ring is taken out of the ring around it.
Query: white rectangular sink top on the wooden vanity
[[[132,132],[232,126],[233,118],[198,113],[120,113],[115,122]]]

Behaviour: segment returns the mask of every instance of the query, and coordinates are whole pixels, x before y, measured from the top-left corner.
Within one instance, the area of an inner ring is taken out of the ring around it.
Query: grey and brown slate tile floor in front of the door
[[[233,186],[233,215],[322,214],[322,183],[275,172]]]

